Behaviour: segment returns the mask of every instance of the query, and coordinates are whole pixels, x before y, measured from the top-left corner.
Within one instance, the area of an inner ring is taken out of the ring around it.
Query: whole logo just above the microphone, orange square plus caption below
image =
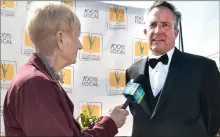
[[[108,95],[121,95],[125,87],[125,70],[108,70]]]

